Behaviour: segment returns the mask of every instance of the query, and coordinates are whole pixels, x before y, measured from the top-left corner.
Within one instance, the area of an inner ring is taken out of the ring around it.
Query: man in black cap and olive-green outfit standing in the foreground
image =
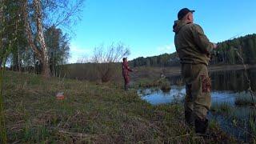
[[[182,63],[182,77],[186,83],[184,103],[185,119],[195,126],[197,134],[205,134],[208,127],[206,118],[210,110],[211,82],[208,76],[210,51],[217,45],[210,42],[201,26],[194,24],[194,10],[184,8],[178,12],[174,22],[174,42]]]

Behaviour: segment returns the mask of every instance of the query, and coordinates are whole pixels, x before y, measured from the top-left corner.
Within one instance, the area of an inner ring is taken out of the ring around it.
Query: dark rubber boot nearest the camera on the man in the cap
[[[206,134],[208,128],[208,119],[196,118],[194,121],[195,133],[196,134]]]

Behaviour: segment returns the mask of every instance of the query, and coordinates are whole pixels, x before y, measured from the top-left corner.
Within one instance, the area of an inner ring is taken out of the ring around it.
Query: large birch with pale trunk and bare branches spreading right
[[[30,48],[39,61],[42,62],[42,75],[50,78],[50,57],[46,46],[44,31],[47,26],[70,26],[75,22],[82,8],[84,0],[24,0],[23,16],[25,21],[26,37]],[[44,5],[42,5],[44,3]],[[30,5],[31,9],[30,9]],[[34,18],[30,18],[30,13]],[[35,23],[36,35],[33,35],[32,24]]]

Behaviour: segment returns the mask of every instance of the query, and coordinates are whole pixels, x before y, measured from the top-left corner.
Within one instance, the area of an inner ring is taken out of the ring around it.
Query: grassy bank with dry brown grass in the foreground
[[[181,105],[151,106],[118,83],[7,72],[3,94],[8,142],[234,142],[213,122],[210,138],[195,135]]]

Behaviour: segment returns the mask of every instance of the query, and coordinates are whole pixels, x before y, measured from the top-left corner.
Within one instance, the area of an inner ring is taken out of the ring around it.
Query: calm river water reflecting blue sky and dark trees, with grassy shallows
[[[256,69],[247,70],[247,74],[250,80],[250,86],[252,90],[256,91]],[[249,106],[235,106],[235,98],[241,95],[250,95],[248,91],[249,82],[246,79],[245,70],[226,70],[210,73],[212,80],[212,92],[211,100],[212,104],[226,103],[234,108],[232,113],[223,116],[223,114],[214,114],[210,112],[208,117],[210,120],[215,120],[219,123],[222,130],[227,134],[234,136],[244,142],[250,142],[252,137],[256,138],[255,132],[252,136],[251,130],[249,130],[249,124],[251,115],[256,115],[256,110],[251,109]],[[153,105],[165,104],[165,103],[178,103],[183,102],[186,95],[185,86],[182,83],[181,76],[175,76],[168,78],[170,81],[170,92],[164,93],[157,88],[140,89],[138,95],[147,102]],[[253,116],[255,117],[255,116]],[[241,126],[235,126],[237,121],[245,123]],[[255,118],[254,122],[256,123]]]

